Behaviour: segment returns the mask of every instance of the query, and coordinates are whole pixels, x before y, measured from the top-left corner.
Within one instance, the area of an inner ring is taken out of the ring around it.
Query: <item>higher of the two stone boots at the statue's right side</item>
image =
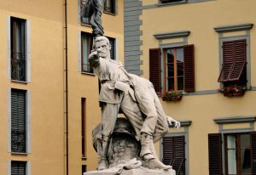
[[[150,144],[153,144],[153,137],[148,133],[142,133],[141,144],[142,144],[142,149],[141,149],[140,156],[143,158],[143,160],[154,159],[155,157],[150,150]]]

